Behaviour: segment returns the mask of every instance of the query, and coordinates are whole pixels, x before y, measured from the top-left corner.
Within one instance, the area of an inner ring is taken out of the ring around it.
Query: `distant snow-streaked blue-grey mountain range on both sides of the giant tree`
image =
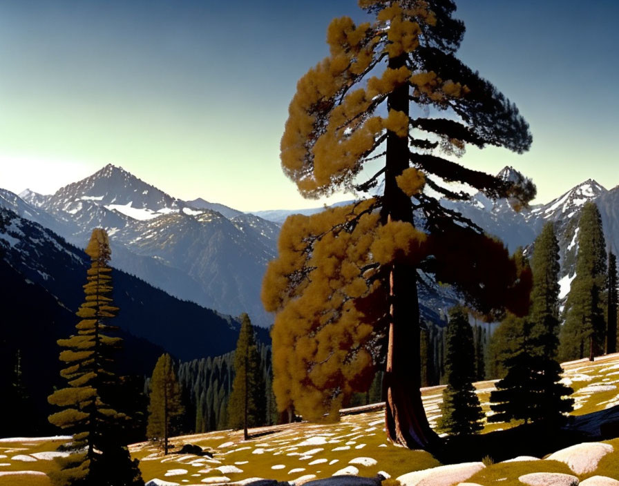
[[[512,167],[504,179],[522,175]],[[595,201],[602,213],[609,249],[619,250],[619,187],[608,191],[588,179],[547,204],[514,211],[506,200],[489,200],[481,193],[466,202],[442,201],[488,233],[499,237],[510,251],[532,243],[544,223],[555,223],[560,242],[562,296],[573,278],[578,218],[582,204]],[[346,204],[345,202],[339,204]],[[107,229],[113,265],[182,300],[229,315],[247,311],[252,320],[268,327],[272,316],[260,303],[260,285],[267,262],[276,256],[280,225],[294,213],[275,210],[242,213],[198,198],[184,201],[164,193],[124,169],[108,164],[53,195],[26,190],[19,196],[0,190],[0,206],[51,229],[75,246],[83,247],[95,226]],[[421,293],[422,312],[430,320],[457,297],[445,289]]]

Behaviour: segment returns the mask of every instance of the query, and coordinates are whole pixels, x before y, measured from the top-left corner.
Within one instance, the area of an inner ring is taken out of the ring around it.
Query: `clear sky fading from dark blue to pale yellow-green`
[[[619,184],[619,2],[459,0],[459,57],[531,124],[513,165],[547,202],[584,179]],[[0,187],[50,193],[104,164],[175,197],[244,211],[301,208],[279,142],[296,81],[356,0],[3,0]],[[343,195],[336,200],[350,198]]]

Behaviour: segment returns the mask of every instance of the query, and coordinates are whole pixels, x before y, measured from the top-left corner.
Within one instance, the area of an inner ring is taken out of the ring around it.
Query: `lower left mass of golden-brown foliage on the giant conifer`
[[[279,311],[272,338],[280,410],[294,401],[305,418],[334,418],[350,393],[372,378],[375,329],[355,305],[361,298],[381,300],[380,285],[367,280],[375,272],[366,267],[378,228],[372,204],[297,215],[283,226],[280,256],[269,264],[263,284],[265,307]],[[356,222],[354,229],[346,221]]]

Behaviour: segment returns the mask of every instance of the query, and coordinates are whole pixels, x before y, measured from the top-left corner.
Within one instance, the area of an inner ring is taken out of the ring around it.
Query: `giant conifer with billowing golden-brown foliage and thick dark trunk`
[[[531,134],[517,108],[455,57],[464,24],[452,17],[452,0],[359,6],[371,21],[334,19],[329,57],[298,82],[281,162],[305,197],[381,191],[285,222],[263,281],[265,308],[277,312],[274,389],[281,411],[294,405],[309,420],[336,419],[351,393],[367,389],[382,344],[387,434],[428,447],[437,437],[419,394],[417,271],[457,286],[488,313],[526,306],[529,288],[500,242],[423,188],[468,200],[448,184],[462,182],[522,206],[535,193],[530,181],[499,179],[444,155],[461,155],[467,144],[522,153]],[[378,161],[364,179],[364,166]],[[423,226],[415,227],[415,211]]]

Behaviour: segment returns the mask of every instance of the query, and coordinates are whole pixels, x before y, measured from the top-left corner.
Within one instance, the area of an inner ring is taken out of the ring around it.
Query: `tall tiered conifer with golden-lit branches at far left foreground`
[[[118,308],[112,302],[111,257],[108,235],[94,229],[86,246],[91,257],[84,285],[86,298],[77,311],[77,335],[58,341],[66,364],[61,376],[68,387],[48,400],[62,411],[49,417],[57,427],[73,434],[73,454],[58,458],[59,471],[50,473],[57,486],[141,486],[137,460],[131,460],[120,425],[126,419],[112,407],[117,377],[113,365],[121,338],[109,336],[117,327],[108,323]]]

